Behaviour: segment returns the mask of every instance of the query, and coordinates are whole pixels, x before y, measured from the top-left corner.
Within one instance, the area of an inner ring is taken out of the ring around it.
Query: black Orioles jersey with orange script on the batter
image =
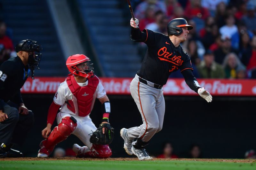
[[[138,76],[158,85],[165,85],[174,71],[193,70],[188,53],[180,45],[175,47],[170,38],[162,33],[132,27],[132,41],[144,42],[148,50],[138,71]]]

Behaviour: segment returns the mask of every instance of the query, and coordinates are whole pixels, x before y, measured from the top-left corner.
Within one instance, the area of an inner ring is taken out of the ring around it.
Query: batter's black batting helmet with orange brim
[[[183,26],[187,26],[188,30],[193,29],[193,26],[188,25],[188,22],[184,18],[172,19],[167,26],[168,35],[180,35],[182,33],[181,27]]]

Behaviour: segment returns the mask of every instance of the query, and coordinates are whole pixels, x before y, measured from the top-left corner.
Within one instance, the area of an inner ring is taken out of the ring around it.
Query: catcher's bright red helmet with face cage
[[[68,57],[66,65],[71,74],[85,78],[94,77],[94,71],[90,58],[83,54],[71,55]]]

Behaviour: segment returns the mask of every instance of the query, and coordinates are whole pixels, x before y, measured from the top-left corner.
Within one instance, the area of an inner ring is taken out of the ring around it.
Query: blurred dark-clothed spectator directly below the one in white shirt
[[[221,36],[220,47],[214,51],[215,61],[222,64],[225,56],[231,52],[237,54],[236,49],[231,47],[231,40]]]

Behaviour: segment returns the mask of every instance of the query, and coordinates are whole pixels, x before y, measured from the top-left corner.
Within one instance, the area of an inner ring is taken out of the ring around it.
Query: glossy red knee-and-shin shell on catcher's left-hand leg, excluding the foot
[[[77,123],[74,117],[63,117],[60,124],[56,126],[47,140],[44,142],[44,147],[50,149],[67,137],[76,129]]]

